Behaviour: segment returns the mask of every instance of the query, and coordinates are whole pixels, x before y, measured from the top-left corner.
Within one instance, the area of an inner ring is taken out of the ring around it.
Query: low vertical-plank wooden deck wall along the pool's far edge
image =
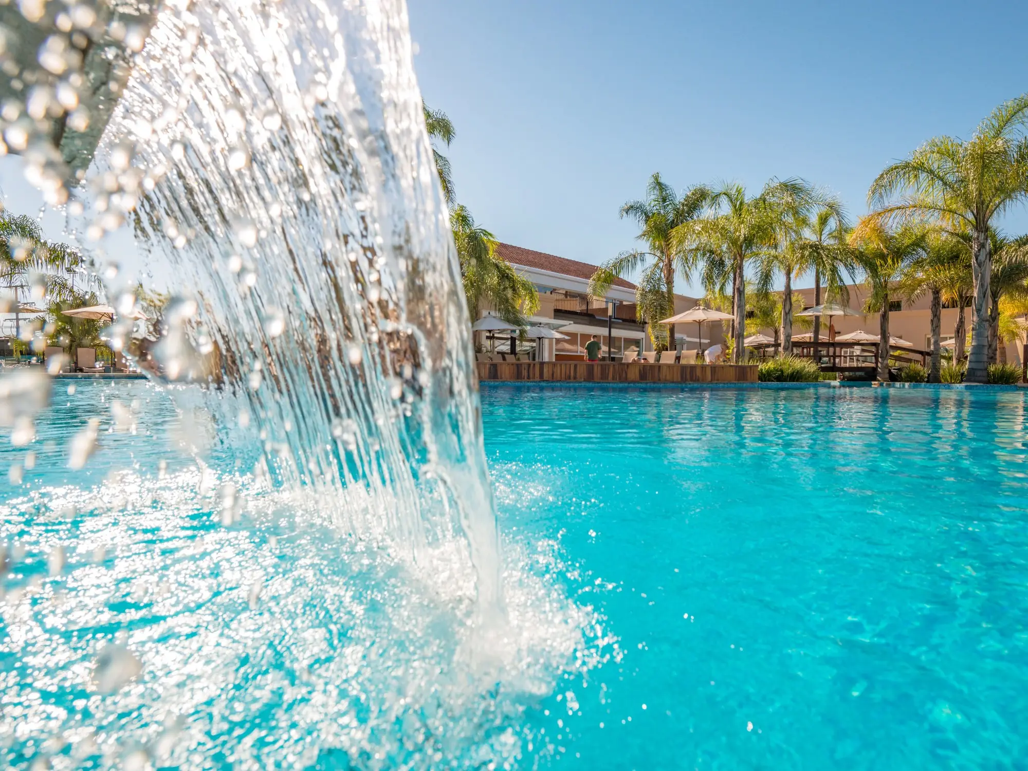
[[[756,364],[478,362],[479,380],[570,382],[757,382]]]

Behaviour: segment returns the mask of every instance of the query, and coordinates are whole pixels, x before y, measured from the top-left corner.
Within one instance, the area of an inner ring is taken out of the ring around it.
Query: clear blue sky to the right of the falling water
[[[501,241],[585,262],[634,246],[618,209],[653,172],[801,176],[858,215],[886,163],[1028,91],[1025,0],[408,2],[458,199]]]

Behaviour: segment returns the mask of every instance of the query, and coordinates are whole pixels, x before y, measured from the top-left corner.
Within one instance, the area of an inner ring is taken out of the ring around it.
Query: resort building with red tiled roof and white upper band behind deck
[[[519,273],[536,285],[540,307],[530,318],[530,322],[550,327],[565,335],[566,339],[543,341],[544,344],[538,352],[540,359],[582,360],[585,358],[585,343],[592,335],[598,335],[602,341],[603,358],[613,356],[615,360],[620,361],[626,352],[634,355],[638,351],[653,350],[646,324],[636,321],[635,285],[631,282],[618,279],[603,298],[593,298],[589,296],[589,280],[596,271],[596,265],[511,244],[500,244],[499,253]],[[688,310],[696,304],[695,297],[674,296],[676,314]],[[508,339],[504,334],[495,333],[498,339]],[[720,324],[703,325],[702,345],[698,334],[695,325],[677,325],[675,328],[677,347],[705,348],[711,344],[711,337],[713,342],[721,342],[724,339]],[[479,332],[476,336],[476,343],[487,346],[486,333]]]

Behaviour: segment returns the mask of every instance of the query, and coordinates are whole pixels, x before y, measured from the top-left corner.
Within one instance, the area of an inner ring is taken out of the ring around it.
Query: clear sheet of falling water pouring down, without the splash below
[[[168,5],[85,216],[91,237],[134,228],[181,297],[163,339],[119,336],[160,377],[237,395],[218,419],[248,426],[271,475],[346,530],[424,559],[455,524],[499,603],[467,310],[403,3]]]

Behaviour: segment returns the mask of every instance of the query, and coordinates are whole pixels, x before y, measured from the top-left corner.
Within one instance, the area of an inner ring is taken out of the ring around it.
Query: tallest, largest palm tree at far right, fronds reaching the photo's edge
[[[1004,102],[969,140],[935,137],[872,183],[869,201],[883,221],[926,219],[970,234],[975,285],[968,382],[988,379],[992,252],[989,228],[1028,198],[1028,94]]]

